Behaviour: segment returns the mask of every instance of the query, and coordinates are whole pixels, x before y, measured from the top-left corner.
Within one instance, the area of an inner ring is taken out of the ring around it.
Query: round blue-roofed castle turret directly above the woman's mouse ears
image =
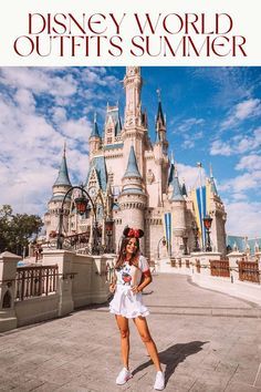
[[[132,225],[144,230],[144,209],[147,206],[147,195],[138,171],[134,147],[130,146],[126,172],[123,176],[123,189],[119,195],[119,208],[123,226]]]

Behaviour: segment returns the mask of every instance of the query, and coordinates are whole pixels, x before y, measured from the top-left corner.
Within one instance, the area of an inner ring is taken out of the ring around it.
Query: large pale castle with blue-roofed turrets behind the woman
[[[202,219],[212,218],[210,240],[213,251],[226,254],[226,212],[212,174],[195,189],[180,184],[176,164],[169,158],[167,124],[158,102],[155,142],[148,135],[147,115],[142,109],[143,79],[139,66],[127,66],[124,78],[126,104],[124,121],[118,106],[107,106],[104,133],[94,118],[88,140],[90,169],[84,188],[96,206],[100,239],[109,239],[115,251],[126,225],[142,228],[142,251],[149,258],[160,256],[167,244],[168,256],[180,257],[206,248]],[[63,202],[65,236],[85,233],[92,241],[92,208],[80,216],[75,212],[75,193],[70,193],[65,151],[53,195],[44,216],[46,237],[55,233]],[[65,194],[69,192],[66,198]],[[109,223],[109,227],[107,226]],[[109,238],[108,238],[109,237]]]

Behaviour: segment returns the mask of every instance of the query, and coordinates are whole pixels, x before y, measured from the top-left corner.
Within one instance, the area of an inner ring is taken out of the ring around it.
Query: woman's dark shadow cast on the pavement
[[[186,360],[187,357],[194,355],[197,352],[202,350],[202,345],[208,342],[200,342],[200,341],[192,341],[189,343],[177,343],[174,345],[170,345],[168,349],[161,351],[158,353],[159,355],[159,361],[164,364],[166,364],[166,370],[165,370],[165,382],[167,384],[169,378],[171,374],[175,372],[175,369],[177,365]],[[152,360],[140,364],[137,367],[134,371],[133,374],[138,373],[139,371],[146,369],[152,364]]]

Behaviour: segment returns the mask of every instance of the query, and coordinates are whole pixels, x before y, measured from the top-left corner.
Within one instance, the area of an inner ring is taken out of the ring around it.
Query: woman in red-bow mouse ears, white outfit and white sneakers
[[[116,383],[119,385],[125,384],[133,376],[128,367],[128,319],[133,319],[157,370],[154,389],[161,391],[165,388],[164,373],[159,363],[157,348],[150,337],[146,321],[146,316],[149,312],[143,305],[142,298],[143,289],[152,281],[148,262],[139,254],[139,238],[143,237],[144,231],[126,227],[123,235],[124,238],[115,265],[115,281],[109,286],[111,292],[114,292],[114,298],[109,303],[109,311],[115,314],[121,332],[124,365],[116,379]]]

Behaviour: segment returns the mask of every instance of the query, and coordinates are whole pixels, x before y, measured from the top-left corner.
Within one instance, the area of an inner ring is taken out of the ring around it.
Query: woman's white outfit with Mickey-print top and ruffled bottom
[[[143,272],[148,271],[149,266],[144,256],[139,256],[138,268],[129,266],[125,261],[119,270],[115,270],[117,282],[114,298],[109,303],[109,311],[114,314],[121,314],[127,319],[134,319],[138,316],[149,314],[148,309],[143,303],[142,292],[133,293],[132,287],[138,286]]]

